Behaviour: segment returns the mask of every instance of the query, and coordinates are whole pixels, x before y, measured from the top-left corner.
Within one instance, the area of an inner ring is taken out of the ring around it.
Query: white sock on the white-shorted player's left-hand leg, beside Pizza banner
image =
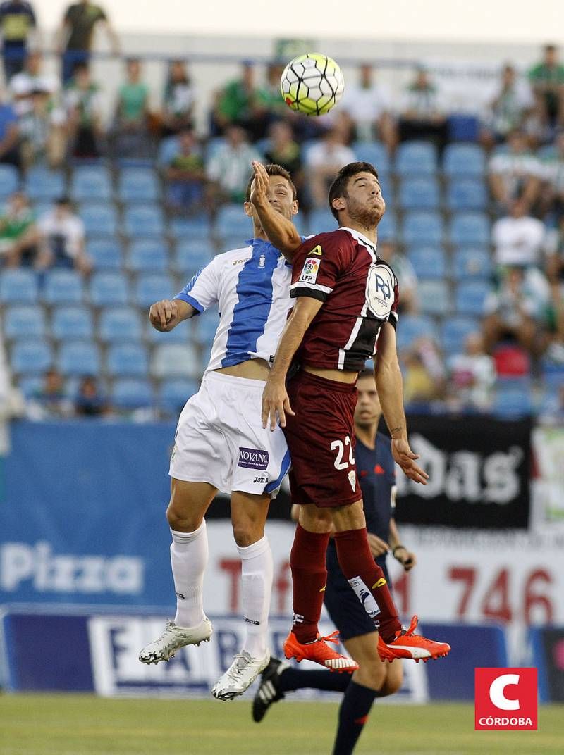
[[[170,562],[175,581],[176,615],[179,627],[197,627],[203,613],[203,573],[208,562],[206,519],[194,532],[171,529]]]

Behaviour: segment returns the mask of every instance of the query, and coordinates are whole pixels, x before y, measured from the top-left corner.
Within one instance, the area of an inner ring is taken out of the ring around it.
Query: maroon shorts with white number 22
[[[296,413],[286,415],[293,504],[320,508],[360,501],[355,448],[355,384],[300,370],[287,386]]]

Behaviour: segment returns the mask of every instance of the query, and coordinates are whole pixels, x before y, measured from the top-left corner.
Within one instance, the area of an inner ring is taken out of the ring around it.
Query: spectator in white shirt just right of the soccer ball
[[[339,110],[347,112],[355,123],[355,139],[378,139],[393,152],[398,132],[392,117],[392,98],[383,85],[374,80],[373,66],[362,63],[358,84],[345,88]]]

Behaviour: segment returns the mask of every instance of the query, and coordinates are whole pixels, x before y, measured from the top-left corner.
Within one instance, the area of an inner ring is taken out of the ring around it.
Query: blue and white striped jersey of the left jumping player
[[[218,254],[196,273],[175,299],[198,313],[218,304],[219,325],[206,372],[247,359],[272,362],[293,307],[291,280],[290,263],[262,239]]]

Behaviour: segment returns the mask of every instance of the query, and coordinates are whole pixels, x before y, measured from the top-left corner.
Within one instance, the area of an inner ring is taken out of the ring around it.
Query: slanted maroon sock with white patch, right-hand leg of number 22
[[[384,642],[391,642],[395,633],[401,630],[401,623],[384,572],[370,553],[366,527],[336,532],[335,546],[342,573],[367,614],[374,619]],[[376,606],[372,600],[367,600],[367,593],[373,596]]]

